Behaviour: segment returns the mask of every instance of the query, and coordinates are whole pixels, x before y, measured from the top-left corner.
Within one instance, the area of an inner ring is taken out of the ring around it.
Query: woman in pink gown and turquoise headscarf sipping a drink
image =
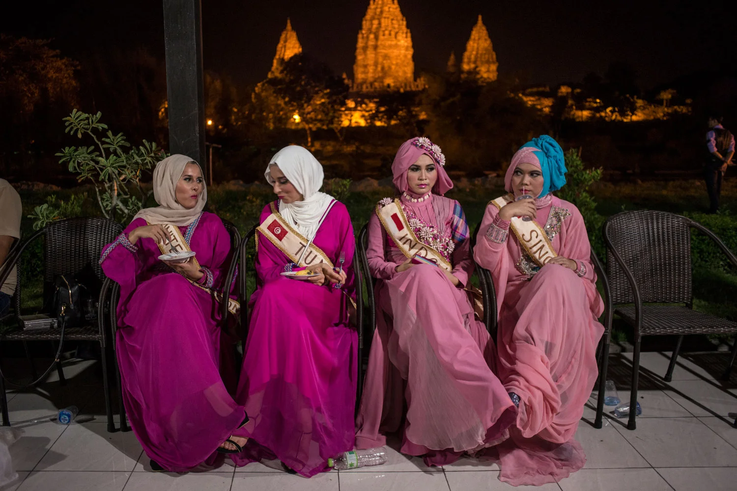
[[[497,373],[519,404],[510,439],[497,446],[499,478],[515,486],[558,481],[586,462],[573,435],[597,376],[604,304],[581,213],[550,193],[565,184],[565,172],[553,138],[520,148],[505,177],[510,195],[486,207],[474,249],[497,293]],[[523,194],[531,198],[514,201]],[[525,225],[520,216],[533,220]],[[520,236],[534,237],[534,246],[525,248]],[[540,248],[545,237],[548,249]]]

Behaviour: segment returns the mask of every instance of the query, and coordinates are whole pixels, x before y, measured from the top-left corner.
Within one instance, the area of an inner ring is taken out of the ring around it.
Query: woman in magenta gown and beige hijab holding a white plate
[[[154,470],[179,472],[212,462],[247,419],[228,393],[234,340],[220,328],[212,294],[226,278],[231,241],[220,218],[203,211],[207,191],[194,160],[161,160],[153,185],[161,206],[140,211],[100,264],[120,285],[116,353],[130,426]],[[161,224],[178,227],[195,257],[159,261],[158,244],[170,238]]]

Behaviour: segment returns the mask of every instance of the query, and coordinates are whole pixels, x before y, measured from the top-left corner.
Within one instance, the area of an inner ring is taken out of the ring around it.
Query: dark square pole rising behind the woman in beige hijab
[[[197,160],[206,174],[201,10],[200,0],[164,0],[169,151]]]

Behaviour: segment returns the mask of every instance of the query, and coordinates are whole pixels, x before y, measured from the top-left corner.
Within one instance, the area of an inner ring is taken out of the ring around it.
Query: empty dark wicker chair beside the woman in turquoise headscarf
[[[737,323],[693,310],[691,289],[691,228],[708,236],[730,262],[737,258],[703,225],[685,216],[662,211],[627,211],[604,222],[607,244],[607,273],[611,306],[635,329],[635,353],[632,358],[630,407],[635,408],[640,369],[642,336],[676,334],[678,341],[664,379],[671,381],[678,352],[685,334],[734,334]],[[679,303],[682,305],[643,305]],[[634,305],[621,305],[634,304]],[[610,308],[611,308],[610,306]],[[724,379],[737,356],[735,342]],[[629,412],[627,428],[634,430],[635,413]]]

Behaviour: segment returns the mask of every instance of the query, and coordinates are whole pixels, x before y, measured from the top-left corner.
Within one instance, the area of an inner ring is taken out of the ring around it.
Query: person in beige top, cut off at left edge
[[[21,197],[7,180],[0,179],[0,275],[13,241],[21,238]],[[15,293],[17,271],[13,268],[5,283],[0,285],[0,317],[10,308]]]

